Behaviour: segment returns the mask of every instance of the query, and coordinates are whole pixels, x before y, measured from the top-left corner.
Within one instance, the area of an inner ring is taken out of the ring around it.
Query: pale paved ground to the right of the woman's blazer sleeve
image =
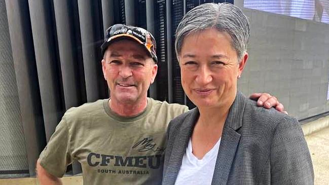
[[[329,127],[305,136],[314,168],[316,185],[329,184]]]

